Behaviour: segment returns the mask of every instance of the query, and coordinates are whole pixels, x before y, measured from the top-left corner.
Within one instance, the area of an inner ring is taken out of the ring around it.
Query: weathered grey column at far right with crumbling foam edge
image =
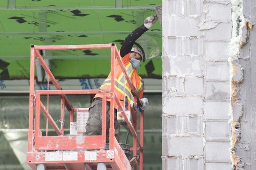
[[[232,127],[231,160],[234,170],[256,168],[256,2],[231,0],[230,43]]]

